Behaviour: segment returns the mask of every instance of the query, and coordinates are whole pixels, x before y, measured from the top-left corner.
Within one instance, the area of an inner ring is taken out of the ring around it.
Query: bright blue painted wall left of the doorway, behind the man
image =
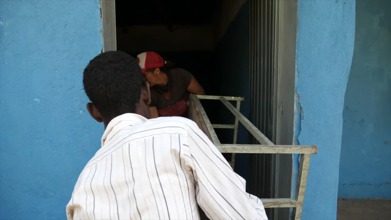
[[[83,68],[102,50],[99,0],[0,1],[0,219],[64,219],[103,125]]]

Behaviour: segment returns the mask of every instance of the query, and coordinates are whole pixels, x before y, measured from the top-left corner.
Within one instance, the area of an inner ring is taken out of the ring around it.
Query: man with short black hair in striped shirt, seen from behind
[[[150,117],[149,85],[132,56],[105,52],[84,69],[88,112],[105,131],[66,206],[72,219],[267,219],[193,121]]]

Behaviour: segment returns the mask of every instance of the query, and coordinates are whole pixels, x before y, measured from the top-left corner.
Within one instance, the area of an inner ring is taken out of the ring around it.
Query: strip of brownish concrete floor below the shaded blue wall
[[[391,200],[339,198],[337,220],[391,220]]]

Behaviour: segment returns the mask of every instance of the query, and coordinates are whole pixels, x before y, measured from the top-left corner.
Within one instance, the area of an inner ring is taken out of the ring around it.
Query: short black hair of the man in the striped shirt
[[[120,51],[93,58],[84,69],[83,84],[88,98],[105,118],[135,113],[145,86],[137,60]]]

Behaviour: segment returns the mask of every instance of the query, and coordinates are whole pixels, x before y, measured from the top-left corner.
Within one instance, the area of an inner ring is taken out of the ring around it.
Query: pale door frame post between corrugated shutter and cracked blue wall
[[[296,94],[296,34],[297,0],[276,0],[278,20],[276,23],[278,86],[276,95],[276,143],[294,144],[294,100]],[[276,155],[275,198],[290,198],[292,195],[292,154]],[[274,219],[289,220],[289,209],[275,209]]]

